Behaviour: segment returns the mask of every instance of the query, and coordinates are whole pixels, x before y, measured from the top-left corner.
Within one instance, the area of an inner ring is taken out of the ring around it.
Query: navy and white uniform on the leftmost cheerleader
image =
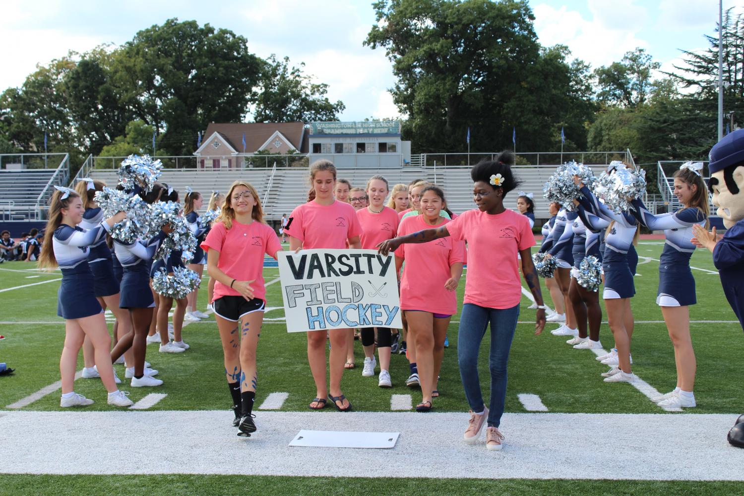
[[[62,224],[54,230],[54,258],[62,271],[62,284],[57,293],[57,315],[60,317],[85,318],[103,312],[93,291],[94,277],[88,265],[88,247],[106,239],[108,227],[104,223],[85,231]]]

